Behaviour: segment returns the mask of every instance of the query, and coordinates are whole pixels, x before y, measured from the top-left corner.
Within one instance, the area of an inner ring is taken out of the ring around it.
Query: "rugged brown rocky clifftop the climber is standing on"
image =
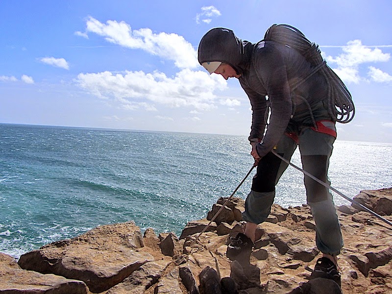
[[[231,201],[233,200],[233,201]],[[243,230],[244,200],[232,198],[198,240],[225,199],[178,238],[133,222],[99,226],[14,258],[0,254],[0,293],[100,294],[388,294],[392,293],[392,227],[349,205],[338,207],[344,247],[338,257],[342,289],[309,280],[321,253],[307,205],[273,205],[258,225],[248,262],[226,258],[229,237]],[[392,188],[362,191],[355,200],[392,221]],[[87,287],[86,287],[87,285]]]

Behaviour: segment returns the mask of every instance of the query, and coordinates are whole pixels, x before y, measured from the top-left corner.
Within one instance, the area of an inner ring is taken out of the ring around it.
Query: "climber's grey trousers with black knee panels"
[[[290,160],[299,146],[302,168],[330,184],[328,166],[334,141],[335,137],[331,135],[304,127],[297,142],[284,134],[275,151]],[[267,220],[275,197],[275,185],[287,167],[287,163],[271,152],[260,160],[251,192],[246,197],[243,220],[253,223]],[[322,253],[338,255],[343,247],[343,238],[331,192],[308,176],[304,177],[304,184],[307,203],[316,223],[316,245]]]

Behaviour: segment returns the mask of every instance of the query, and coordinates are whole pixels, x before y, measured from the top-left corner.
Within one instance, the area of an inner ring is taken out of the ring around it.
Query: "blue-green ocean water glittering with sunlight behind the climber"
[[[19,257],[98,225],[173,231],[230,196],[252,166],[247,136],[0,124],[0,252]],[[292,162],[301,166],[299,152]],[[354,197],[392,186],[392,145],[334,145],[332,186]],[[245,199],[251,177],[235,196]],[[275,203],[306,202],[289,167]],[[336,205],[349,204],[334,195]]]

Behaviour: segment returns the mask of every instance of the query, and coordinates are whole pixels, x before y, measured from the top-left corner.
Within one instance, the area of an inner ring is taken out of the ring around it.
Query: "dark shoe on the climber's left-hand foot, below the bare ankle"
[[[249,262],[252,253],[253,242],[245,234],[238,233],[236,237],[230,237],[230,244],[227,246],[226,256],[230,260],[237,260],[240,263]]]

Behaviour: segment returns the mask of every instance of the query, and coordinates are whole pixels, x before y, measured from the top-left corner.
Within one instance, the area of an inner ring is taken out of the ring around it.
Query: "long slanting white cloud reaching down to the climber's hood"
[[[174,61],[181,69],[199,66],[196,50],[182,36],[171,33],[155,34],[149,28],[132,30],[125,22],[107,21],[100,23],[93,17],[86,22],[88,32],[105,37],[105,40],[131,49],[143,49],[153,55]]]

